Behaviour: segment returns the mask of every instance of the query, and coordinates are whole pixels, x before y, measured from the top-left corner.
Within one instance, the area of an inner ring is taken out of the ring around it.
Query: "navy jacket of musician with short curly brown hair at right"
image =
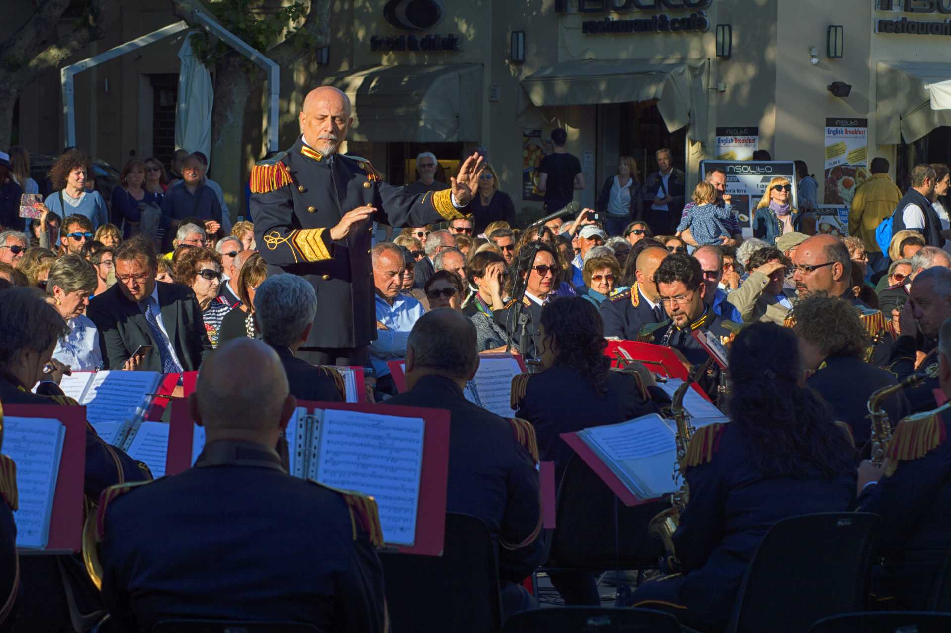
[[[835,419],[849,425],[858,457],[868,459],[871,422],[868,418],[868,397],[883,386],[896,385],[895,375],[865,363],[854,356],[829,356],[819,369],[805,381],[807,386],[823,395],[832,406]],[[931,402],[934,403],[932,397]],[[885,398],[880,406],[892,425],[911,413],[911,405],[901,391]]]

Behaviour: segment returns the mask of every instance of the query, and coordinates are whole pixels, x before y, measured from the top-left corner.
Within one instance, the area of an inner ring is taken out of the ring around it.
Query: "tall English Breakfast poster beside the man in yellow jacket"
[[[825,119],[825,204],[851,205],[868,173],[868,119]]]

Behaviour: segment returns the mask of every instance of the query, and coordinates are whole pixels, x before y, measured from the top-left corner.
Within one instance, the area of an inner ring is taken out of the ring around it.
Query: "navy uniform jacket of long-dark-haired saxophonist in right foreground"
[[[641,584],[631,604],[669,610],[693,628],[724,630],[769,527],[800,514],[846,509],[855,498],[855,478],[825,479],[818,471],[796,479],[767,476],[756,467],[754,448],[729,424],[698,429],[691,449],[694,443],[708,448],[687,463],[690,501],[673,534],[683,573]]]

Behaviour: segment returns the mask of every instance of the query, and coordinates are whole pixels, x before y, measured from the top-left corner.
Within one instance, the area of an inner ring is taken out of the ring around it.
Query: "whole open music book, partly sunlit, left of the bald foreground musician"
[[[86,406],[86,419],[107,444],[119,445],[122,425],[136,425],[146,417],[164,379],[157,371],[74,371],[60,387]]]

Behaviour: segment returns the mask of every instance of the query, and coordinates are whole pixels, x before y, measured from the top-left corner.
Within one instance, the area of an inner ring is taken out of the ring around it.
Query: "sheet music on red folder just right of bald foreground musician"
[[[317,480],[376,498],[389,544],[416,538],[424,429],[420,418],[323,412]]]

